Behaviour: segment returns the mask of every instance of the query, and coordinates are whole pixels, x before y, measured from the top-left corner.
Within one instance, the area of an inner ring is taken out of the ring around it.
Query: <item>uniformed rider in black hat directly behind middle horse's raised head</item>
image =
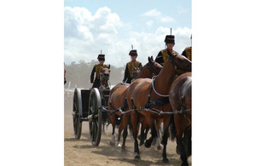
[[[156,56],[155,61],[160,63],[160,65],[164,66],[166,59],[168,58],[168,52],[170,51],[173,55],[177,54],[172,48],[175,45],[175,37],[174,35],[166,35],[166,46],[167,49],[160,50],[159,54]]]

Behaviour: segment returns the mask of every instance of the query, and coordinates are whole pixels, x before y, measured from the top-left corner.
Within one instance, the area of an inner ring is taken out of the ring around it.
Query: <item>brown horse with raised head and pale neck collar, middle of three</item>
[[[166,144],[168,138],[168,126],[170,123],[170,114],[160,113],[169,112],[171,105],[168,100],[168,92],[171,88],[172,82],[177,75],[183,72],[191,71],[191,61],[182,55],[173,55],[168,51],[168,59],[165,62],[160,74],[154,79],[140,78],[135,80],[127,89],[127,102],[130,109],[135,112],[131,113],[131,124],[133,128],[134,152],[135,158],[139,159],[139,148],[137,143],[137,117],[138,114],[143,114],[148,124],[151,124],[152,136],[146,141],[145,146],[151,146],[152,140],[156,136],[154,127],[154,119],[163,119],[164,135],[162,137],[163,148],[163,162],[168,163],[166,157]],[[145,97],[148,96],[148,97]]]

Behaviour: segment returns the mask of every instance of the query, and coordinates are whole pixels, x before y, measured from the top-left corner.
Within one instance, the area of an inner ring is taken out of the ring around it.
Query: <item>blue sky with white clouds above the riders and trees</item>
[[[66,64],[96,60],[102,50],[105,64],[125,66],[132,45],[145,65],[165,49],[171,28],[177,53],[191,46],[191,0],[66,0],[64,6]]]

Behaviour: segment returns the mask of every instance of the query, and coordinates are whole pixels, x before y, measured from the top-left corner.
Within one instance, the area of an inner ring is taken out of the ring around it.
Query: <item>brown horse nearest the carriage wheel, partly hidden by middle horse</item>
[[[155,62],[153,59],[153,56],[151,58],[148,57],[148,63],[143,66],[141,72],[138,74],[137,78],[140,77],[153,77],[155,75],[158,75],[160,73],[162,66],[160,66],[159,63]],[[129,87],[130,83],[119,83],[111,89],[109,94],[109,100],[108,100],[108,109],[109,110],[115,110],[115,112],[110,113],[109,117],[111,119],[111,123],[113,126],[113,132],[111,135],[110,145],[115,145],[115,134],[114,129],[115,125],[117,124],[116,116],[122,117],[122,121],[119,125],[119,136],[118,136],[118,146],[120,141],[120,135],[121,132],[123,132],[123,144],[122,144],[122,151],[125,152],[125,140],[127,137],[127,123],[130,117],[129,112],[122,115],[121,112],[127,111],[127,102],[126,100],[126,89]],[[121,111],[121,112],[120,112]]]

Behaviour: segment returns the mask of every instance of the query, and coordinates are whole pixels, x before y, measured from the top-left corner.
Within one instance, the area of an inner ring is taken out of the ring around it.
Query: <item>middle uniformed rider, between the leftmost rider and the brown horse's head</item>
[[[141,62],[137,61],[137,50],[133,49],[130,51],[129,55],[131,55],[131,61],[126,63],[125,67],[125,77],[123,82],[124,83],[131,83],[131,80],[135,78],[133,75],[134,68],[139,68],[140,70],[143,68]]]

